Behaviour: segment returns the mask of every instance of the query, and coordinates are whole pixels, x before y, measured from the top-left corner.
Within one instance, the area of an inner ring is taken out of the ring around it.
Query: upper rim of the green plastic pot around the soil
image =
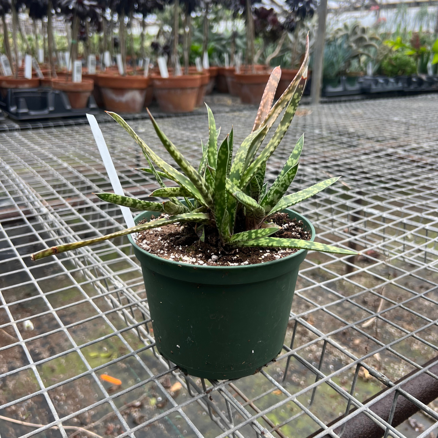
[[[304,218],[305,221],[307,221],[307,223],[309,223],[310,229],[311,229],[311,232],[312,232],[312,236],[310,238],[310,241],[313,242],[315,240],[316,232],[315,232],[313,224],[311,223],[311,221],[309,219],[307,219],[305,216],[301,215],[300,213],[296,212],[295,210],[291,210],[290,208],[285,208],[281,212],[282,213],[283,212],[284,213],[286,213],[286,212],[289,213],[290,212],[290,213],[293,213],[293,214],[295,214],[297,216],[300,216],[301,218]],[[139,216],[141,216],[142,214],[144,214],[144,212],[141,212],[137,216],[134,217],[134,223],[137,222]],[[216,271],[216,272],[220,272],[220,271],[229,271],[230,269],[233,269],[233,268],[234,269],[238,268],[238,269],[250,270],[250,269],[258,268],[258,267],[260,267],[260,265],[262,265],[262,263],[254,263],[252,265],[237,265],[237,266],[191,265],[190,263],[185,263],[185,262],[181,262],[181,261],[171,261],[171,260],[169,260],[167,258],[158,257],[155,254],[151,254],[150,252],[145,251],[143,248],[141,248],[140,246],[138,246],[134,242],[134,239],[132,238],[131,234],[128,234],[128,240],[131,243],[131,245],[133,245],[135,248],[137,248],[137,250],[140,251],[142,254],[144,254],[144,255],[146,255],[148,257],[151,257],[155,261],[159,261],[161,263],[168,263],[170,266],[173,265],[175,268],[178,268],[178,267],[181,267],[181,265],[184,265],[184,266],[187,266],[188,268],[194,267],[194,268],[200,269],[201,272],[202,271],[205,272],[205,271],[208,271],[208,270],[213,270],[213,271]],[[307,251],[307,249],[300,249],[297,252],[294,252],[293,254],[287,255],[286,257],[279,258],[277,260],[266,261],[266,262],[263,263],[263,265],[264,266],[268,266],[268,265],[273,266],[273,265],[282,263],[284,261],[290,261],[293,258],[298,258],[300,256],[300,254],[302,254],[304,251]]]

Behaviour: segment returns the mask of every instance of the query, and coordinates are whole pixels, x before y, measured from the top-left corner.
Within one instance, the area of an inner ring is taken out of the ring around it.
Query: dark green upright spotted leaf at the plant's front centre
[[[222,241],[226,243],[230,238],[229,218],[225,217],[226,212],[226,171],[228,168],[229,156],[228,138],[219,146],[216,160],[216,174],[215,174],[215,198],[214,198],[214,212],[216,219],[216,226],[219,231],[219,236]],[[226,220],[226,223],[223,221]]]

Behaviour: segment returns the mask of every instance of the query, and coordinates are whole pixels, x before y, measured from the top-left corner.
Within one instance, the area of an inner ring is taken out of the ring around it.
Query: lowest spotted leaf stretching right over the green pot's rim
[[[313,251],[332,252],[335,254],[357,254],[355,251],[334,247],[332,245],[320,244],[311,240],[301,239],[282,239],[281,237],[261,237],[260,239],[250,240],[249,242],[237,242],[234,247],[262,247],[262,248],[297,248],[309,249]]]

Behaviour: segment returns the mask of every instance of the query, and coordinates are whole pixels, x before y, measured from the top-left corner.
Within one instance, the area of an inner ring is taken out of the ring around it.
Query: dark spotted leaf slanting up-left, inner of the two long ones
[[[192,184],[198,189],[206,204],[211,208],[213,206],[212,187],[206,183],[205,179],[201,177],[198,171],[187,161],[187,159],[184,158],[184,155],[182,155],[177,147],[167,138],[166,134],[161,131],[148,109],[147,111],[162,145],[166,148],[166,151],[169,152],[170,156],[175,160],[178,166],[184,171],[188,179],[191,180]]]

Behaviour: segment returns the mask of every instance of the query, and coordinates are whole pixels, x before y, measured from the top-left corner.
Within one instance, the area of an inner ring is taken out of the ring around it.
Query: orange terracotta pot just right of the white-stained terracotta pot
[[[160,109],[166,113],[187,113],[193,111],[201,86],[200,74],[152,76],[155,97]]]

